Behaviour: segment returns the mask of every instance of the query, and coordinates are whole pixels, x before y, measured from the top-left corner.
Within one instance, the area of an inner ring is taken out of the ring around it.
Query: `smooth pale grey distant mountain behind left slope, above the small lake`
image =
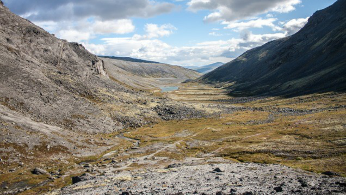
[[[111,79],[141,90],[192,80],[202,74],[181,66],[134,58],[102,57]]]

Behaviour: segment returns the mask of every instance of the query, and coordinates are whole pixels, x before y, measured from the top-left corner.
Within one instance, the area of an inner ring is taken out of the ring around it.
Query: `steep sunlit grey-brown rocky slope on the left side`
[[[0,167],[95,155],[116,144],[96,134],[203,113],[114,82],[82,45],[57,39],[2,2],[0,86]]]

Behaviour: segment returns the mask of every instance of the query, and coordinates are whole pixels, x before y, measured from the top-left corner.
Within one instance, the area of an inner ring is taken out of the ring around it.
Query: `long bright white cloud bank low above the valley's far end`
[[[167,36],[170,33],[161,33],[149,36],[148,29],[160,29],[171,25],[145,27],[147,34],[134,35],[131,37],[108,37],[103,38],[103,44],[95,45],[86,43],[84,46],[89,51],[108,56],[129,56],[133,58],[161,61],[178,65],[203,65],[212,61],[228,62],[248,49],[263,45],[268,41],[285,36],[284,33],[255,35],[251,32],[243,32],[240,38],[229,40],[205,41],[192,46],[173,46],[158,40],[158,36]]]

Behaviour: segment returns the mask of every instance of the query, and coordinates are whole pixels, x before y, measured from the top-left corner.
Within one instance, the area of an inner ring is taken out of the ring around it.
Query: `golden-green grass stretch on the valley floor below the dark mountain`
[[[257,100],[248,107],[290,107],[301,102],[300,109],[344,105],[345,95],[330,94],[293,99]],[[334,103],[333,103],[334,102]],[[336,103],[335,103],[336,102]],[[308,103],[308,104],[307,104]],[[280,104],[280,105],[278,105]],[[318,106],[314,107],[314,104]],[[156,143],[174,143],[175,151],[157,154],[171,159],[221,156],[237,162],[274,163],[307,171],[336,171],[346,176],[346,109],[329,109],[302,116],[276,114],[275,120],[261,124],[267,111],[239,111],[220,118],[166,121],[138,128],[125,134],[140,139],[141,147]],[[192,136],[194,135],[194,136]]]

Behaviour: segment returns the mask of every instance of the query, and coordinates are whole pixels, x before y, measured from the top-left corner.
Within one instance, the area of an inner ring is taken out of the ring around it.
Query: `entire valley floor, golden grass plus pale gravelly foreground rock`
[[[113,143],[99,156],[2,166],[0,193],[346,193],[346,94],[233,98],[189,83],[159,95],[210,117],[97,135]],[[31,174],[34,165],[51,174]],[[73,176],[81,182],[59,189]]]

